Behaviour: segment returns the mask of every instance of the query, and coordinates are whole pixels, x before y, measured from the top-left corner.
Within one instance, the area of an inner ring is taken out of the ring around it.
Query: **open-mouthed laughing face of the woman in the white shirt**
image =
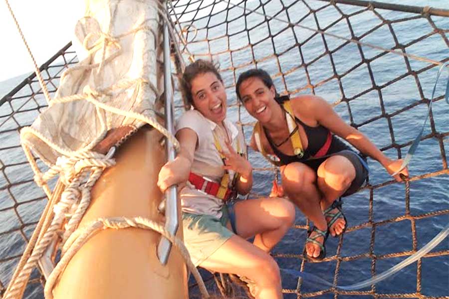
[[[198,74],[191,81],[192,100],[207,119],[221,124],[226,118],[226,92],[223,82],[212,72]]]

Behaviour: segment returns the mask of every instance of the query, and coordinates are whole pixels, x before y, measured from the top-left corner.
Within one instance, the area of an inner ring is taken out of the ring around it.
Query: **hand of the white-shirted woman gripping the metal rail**
[[[170,186],[187,181],[190,167],[190,160],[184,156],[177,156],[173,161],[165,163],[159,171],[159,189],[164,193]]]

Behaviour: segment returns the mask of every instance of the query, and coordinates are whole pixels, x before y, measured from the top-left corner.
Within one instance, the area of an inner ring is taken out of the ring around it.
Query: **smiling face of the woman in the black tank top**
[[[258,77],[249,77],[241,82],[238,91],[240,99],[248,113],[261,124],[268,122],[273,116],[274,86],[268,88]]]

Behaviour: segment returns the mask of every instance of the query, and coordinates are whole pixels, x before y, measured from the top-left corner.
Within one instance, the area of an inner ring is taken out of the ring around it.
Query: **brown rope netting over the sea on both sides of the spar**
[[[235,99],[234,86],[238,74],[254,66],[273,75],[279,93],[315,93],[332,102],[340,116],[391,157],[405,155],[433,103],[409,165],[411,177],[397,183],[369,160],[368,184],[346,199],[349,227],[343,237],[328,241],[326,259],[303,260],[309,223],[302,215],[273,256],[282,269],[333,284],[311,286],[307,277],[283,271],[285,298],[449,298],[447,245],[426,253],[394,279],[361,290],[335,288],[374,277],[412,256],[447,225],[448,106],[444,86],[437,85],[434,97],[432,87],[437,70],[449,61],[448,10],[359,0],[183,0],[168,3],[168,11],[177,40],[174,78],[183,61],[207,57],[219,62],[228,117],[243,126],[247,139],[253,120]],[[50,96],[61,73],[77,62],[69,43],[40,67]],[[180,99],[175,91],[176,115],[185,109]],[[20,148],[19,130],[47,102],[33,74],[0,104],[0,218],[7,219],[0,232],[3,295],[46,203]],[[249,151],[249,158],[255,167],[252,195],[266,195],[266,182],[277,177],[278,169],[255,152]],[[231,287],[233,277],[203,274],[209,288],[239,295]],[[42,297],[42,284],[40,270],[34,270],[24,297]],[[198,296],[196,284],[190,293]]]

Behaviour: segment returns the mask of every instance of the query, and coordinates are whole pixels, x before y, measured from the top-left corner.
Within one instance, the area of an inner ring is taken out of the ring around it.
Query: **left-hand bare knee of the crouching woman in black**
[[[287,193],[301,192],[315,181],[315,173],[302,163],[290,163],[282,171],[282,186]]]

